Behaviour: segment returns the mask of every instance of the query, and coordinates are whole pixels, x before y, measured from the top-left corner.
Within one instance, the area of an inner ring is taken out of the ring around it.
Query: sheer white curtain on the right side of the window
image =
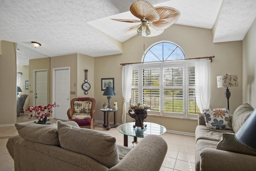
[[[200,112],[210,108],[210,62],[208,58],[196,60],[196,103]]]

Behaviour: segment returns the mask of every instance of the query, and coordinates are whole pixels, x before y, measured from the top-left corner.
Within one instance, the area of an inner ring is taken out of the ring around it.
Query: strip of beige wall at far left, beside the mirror
[[[16,44],[2,40],[0,56],[0,125],[16,123]]]

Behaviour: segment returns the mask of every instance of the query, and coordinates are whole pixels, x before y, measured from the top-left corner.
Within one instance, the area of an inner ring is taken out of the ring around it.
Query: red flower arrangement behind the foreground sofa
[[[59,105],[54,104],[48,104],[45,105],[39,105],[39,106],[28,106],[28,108],[24,111],[22,111],[22,114],[24,114],[26,111],[35,111],[36,115],[30,115],[29,119],[37,118],[39,121],[38,123],[46,123],[47,117],[50,116],[50,113],[52,113],[52,107],[59,107]]]

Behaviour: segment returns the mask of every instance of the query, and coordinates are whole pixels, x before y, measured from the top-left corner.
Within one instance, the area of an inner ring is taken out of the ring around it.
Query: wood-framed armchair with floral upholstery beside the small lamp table
[[[90,97],[74,98],[70,101],[68,120],[75,121],[79,127],[93,129],[95,99]]]

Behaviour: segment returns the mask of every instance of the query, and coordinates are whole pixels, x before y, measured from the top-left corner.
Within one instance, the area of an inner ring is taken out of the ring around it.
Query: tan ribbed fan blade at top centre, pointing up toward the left
[[[136,1],[130,6],[130,12],[137,18],[145,18],[148,22],[154,22],[159,20],[158,12],[154,6],[146,1]]]

